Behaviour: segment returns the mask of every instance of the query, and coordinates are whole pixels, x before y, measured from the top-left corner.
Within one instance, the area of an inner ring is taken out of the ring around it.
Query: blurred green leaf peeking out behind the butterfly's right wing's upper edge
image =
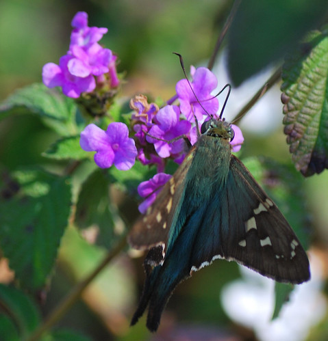
[[[310,219],[301,174],[292,165],[283,165],[266,157],[247,158],[242,162],[275,201],[307,249],[310,244]]]

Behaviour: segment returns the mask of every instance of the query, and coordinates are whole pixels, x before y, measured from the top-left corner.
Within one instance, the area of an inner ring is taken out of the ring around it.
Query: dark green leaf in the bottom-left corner
[[[23,340],[40,323],[36,306],[23,292],[0,284],[0,303],[10,317],[0,315],[1,340],[15,340],[17,334],[21,336],[19,340]]]

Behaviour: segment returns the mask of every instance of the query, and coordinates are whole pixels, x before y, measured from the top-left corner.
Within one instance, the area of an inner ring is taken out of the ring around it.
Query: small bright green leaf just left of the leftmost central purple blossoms
[[[80,136],[64,137],[55,141],[49,149],[42,153],[42,156],[49,157],[50,159],[74,159],[81,160],[90,156],[90,153],[84,151],[79,145]]]

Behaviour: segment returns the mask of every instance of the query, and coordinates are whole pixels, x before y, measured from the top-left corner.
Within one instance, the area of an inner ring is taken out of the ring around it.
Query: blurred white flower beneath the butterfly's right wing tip
[[[255,331],[262,341],[301,341],[310,328],[325,316],[327,301],[320,292],[323,268],[320,260],[310,254],[312,278],[298,285],[283,305],[275,320],[275,282],[245,267],[240,267],[243,279],[228,284],[221,291],[223,308],[231,320]]]

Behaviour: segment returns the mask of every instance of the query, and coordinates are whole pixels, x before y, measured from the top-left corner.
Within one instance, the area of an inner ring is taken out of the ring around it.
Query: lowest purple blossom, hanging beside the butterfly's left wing
[[[138,193],[141,197],[146,197],[146,200],[138,206],[140,213],[146,213],[147,208],[153,204],[157,194],[171,177],[170,174],[158,173],[150,180],[140,183]]]

